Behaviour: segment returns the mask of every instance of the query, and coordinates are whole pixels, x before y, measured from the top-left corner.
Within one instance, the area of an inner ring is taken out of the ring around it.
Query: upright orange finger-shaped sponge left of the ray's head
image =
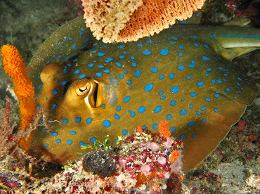
[[[4,70],[12,77],[14,92],[19,100],[20,129],[29,126],[37,111],[34,101],[34,89],[32,82],[27,77],[25,62],[15,46],[6,44],[1,47]]]

